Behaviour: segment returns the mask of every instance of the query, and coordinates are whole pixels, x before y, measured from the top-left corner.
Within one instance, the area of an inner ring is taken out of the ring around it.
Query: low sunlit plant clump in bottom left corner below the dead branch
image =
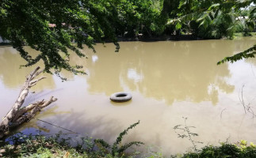
[[[43,135],[15,134],[1,148],[2,157],[88,157],[78,144],[71,147],[70,138],[61,138],[61,133],[52,137]]]

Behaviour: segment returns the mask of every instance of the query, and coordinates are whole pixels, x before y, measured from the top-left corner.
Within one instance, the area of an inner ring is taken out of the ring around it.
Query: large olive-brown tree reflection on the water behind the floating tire
[[[230,77],[227,64],[216,66],[235,51],[232,41],[130,42],[120,47],[119,53],[113,53],[111,44],[96,47],[97,62],[87,64],[91,93],[109,96],[130,90],[167,104],[183,100],[216,104],[220,91],[234,90],[225,80]]]

